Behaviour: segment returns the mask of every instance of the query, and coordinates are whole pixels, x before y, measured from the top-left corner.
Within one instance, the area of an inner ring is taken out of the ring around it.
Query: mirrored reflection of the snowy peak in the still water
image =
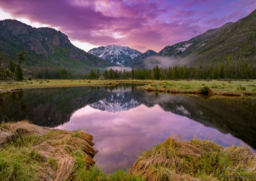
[[[141,105],[130,93],[113,93],[111,96],[90,104],[92,108],[108,112],[122,112]]]

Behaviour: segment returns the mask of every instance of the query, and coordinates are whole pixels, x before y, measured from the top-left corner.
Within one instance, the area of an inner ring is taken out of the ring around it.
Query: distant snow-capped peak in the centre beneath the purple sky
[[[118,66],[127,66],[129,62],[142,53],[129,47],[109,45],[107,47],[92,48],[88,53],[96,55]]]

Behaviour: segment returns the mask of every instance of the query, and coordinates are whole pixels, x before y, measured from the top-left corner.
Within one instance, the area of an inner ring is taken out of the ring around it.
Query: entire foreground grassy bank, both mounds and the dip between
[[[26,121],[0,126],[0,180],[250,180],[256,157],[246,147],[212,141],[164,143],[139,157],[130,173],[107,175],[95,166],[92,135]]]

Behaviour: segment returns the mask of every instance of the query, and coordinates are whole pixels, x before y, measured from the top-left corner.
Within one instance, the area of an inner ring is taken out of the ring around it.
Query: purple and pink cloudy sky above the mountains
[[[86,51],[115,44],[159,52],[255,9],[256,0],[1,0],[0,20],[58,29]]]

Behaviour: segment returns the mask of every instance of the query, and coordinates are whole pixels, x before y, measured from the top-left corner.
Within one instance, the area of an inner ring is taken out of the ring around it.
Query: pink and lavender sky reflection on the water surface
[[[181,115],[165,112],[159,105],[140,105],[121,112],[97,110],[90,105],[74,112],[70,121],[56,127],[72,131],[83,129],[94,137],[97,166],[107,172],[119,168],[129,169],[138,156],[168,136],[179,134],[181,138],[214,140],[223,146],[245,145],[231,134],[205,127]]]

